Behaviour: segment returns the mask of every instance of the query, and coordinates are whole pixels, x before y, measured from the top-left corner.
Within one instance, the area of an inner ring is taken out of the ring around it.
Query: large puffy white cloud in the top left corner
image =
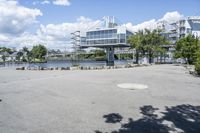
[[[20,6],[15,0],[0,0],[0,33],[21,34],[42,16],[38,9]]]

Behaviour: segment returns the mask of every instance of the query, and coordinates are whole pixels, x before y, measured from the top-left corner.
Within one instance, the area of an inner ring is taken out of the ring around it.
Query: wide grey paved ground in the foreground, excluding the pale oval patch
[[[148,88],[120,88],[122,83]],[[200,78],[182,66],[0,68],[0,99],[0,133],[200,131]]]

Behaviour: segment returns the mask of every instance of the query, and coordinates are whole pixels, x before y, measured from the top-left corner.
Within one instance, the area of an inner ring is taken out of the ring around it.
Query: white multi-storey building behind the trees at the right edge
[[[173,62],[175,45],[180,38],[189,34],[200,37],[200,16],[190,16],[170,24],[166,21],[160,21],[157,23],[157,28],[162,30],[161,35],[170,41],[169,45],[163,46],[167,51],[164,62]],[[163,60],[163,58],[159,60]]]

